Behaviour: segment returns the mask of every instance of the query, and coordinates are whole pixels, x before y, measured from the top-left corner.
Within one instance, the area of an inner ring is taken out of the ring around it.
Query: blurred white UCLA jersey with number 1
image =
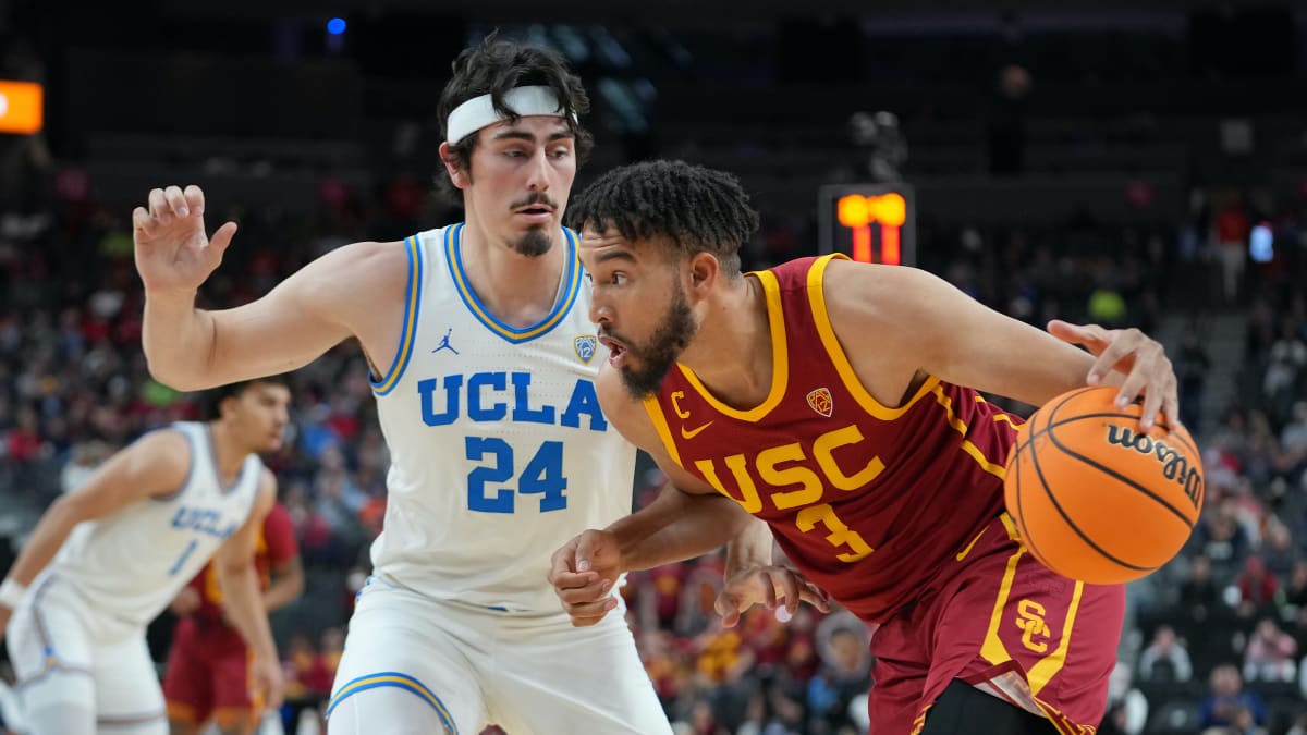
[[[263,462],[251,454],[235,483],[222,487],[208,424],[178,422],[171,429],[191,445],[186,483],[175,493],[77,524],[48,569],[94,609],[142,625],[246,522],[263,475]]]

